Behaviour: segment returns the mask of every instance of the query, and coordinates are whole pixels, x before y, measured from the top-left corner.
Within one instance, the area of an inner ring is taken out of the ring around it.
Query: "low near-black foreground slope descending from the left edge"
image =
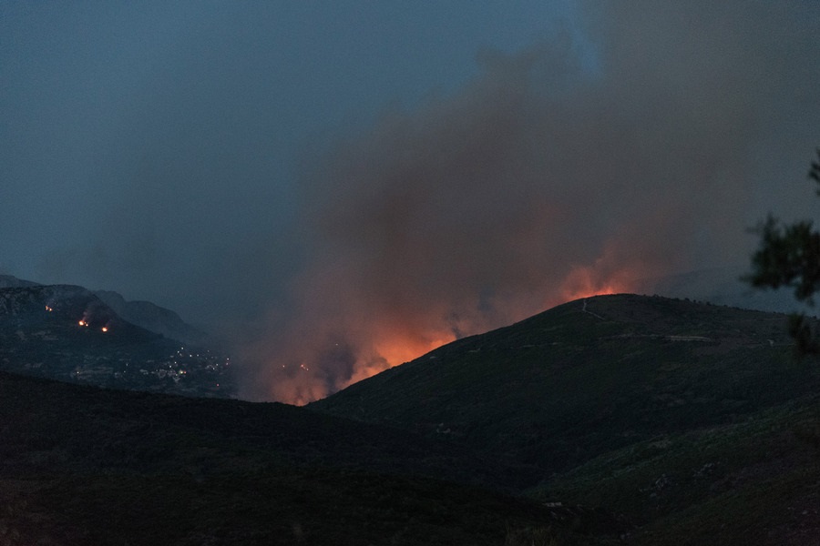
[[[0,372],[4,544],[495,545],[569,529],[571,508],[464,483],[497,470],[447,441],[282,404]]]

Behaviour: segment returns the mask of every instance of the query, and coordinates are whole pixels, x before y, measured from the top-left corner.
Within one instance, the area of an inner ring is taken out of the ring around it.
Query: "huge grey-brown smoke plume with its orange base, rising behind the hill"
[[[776,196],[761,177],[801,179],[820,138],[818,10],[782,4],[592,3],[596,58],[570,33],[483,52],[457,93],[306,162],[306,264],[246,394],[303,403],[570,298],[743,262]]]

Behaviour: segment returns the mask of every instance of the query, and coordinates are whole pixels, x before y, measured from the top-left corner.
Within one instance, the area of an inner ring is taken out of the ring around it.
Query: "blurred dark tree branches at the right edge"
[[[820,148],[816,152],[808,177],[820,186]],[[784,224],[769,215],[755,231],[761,238],[760,247],[752,255],[752,272],[743,280],[753,288],[793,288],[794,298],[814,306],[815,293],[820,291],[820,232],[811,220]],[[789,333],[800,354],[820,354],[815,322],[805,314],[792,316]]]

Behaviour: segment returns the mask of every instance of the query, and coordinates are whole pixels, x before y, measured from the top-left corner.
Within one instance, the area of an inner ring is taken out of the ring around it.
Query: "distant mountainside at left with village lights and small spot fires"
[[[0,369],[192,396],[235,392],[230,359],[170,337],[177,331],[188,340],[205,339],[168,309],[77,286],[9,277],[0,283]]]

